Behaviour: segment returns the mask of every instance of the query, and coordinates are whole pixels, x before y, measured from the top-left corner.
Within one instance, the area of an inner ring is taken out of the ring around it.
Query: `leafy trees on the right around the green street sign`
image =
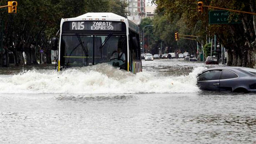
[[[218,41],[228,50],[230,58],[228,65],[256,67],[255,15],[236,13],[242,20],[241,24],[213,24],[208,26],[208,11],[212,9],[204,8],[203,14],[200,15],[194,0],[154,0],[153,2],[158,5],[158,15],[168,18],[172,18],[173,15],[182,15],[188,29],[193,30],[192,34],[200,36],[197,41],[201,45],[206,43],[206,36],[217,35]],[[256,0],[205,0],[204,5],[256,12]],[[232,15],[234,14],[232,13]]]

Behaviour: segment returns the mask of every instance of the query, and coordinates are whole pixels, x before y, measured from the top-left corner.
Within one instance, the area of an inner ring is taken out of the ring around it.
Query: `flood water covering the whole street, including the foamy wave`
[[[0,69],[0,143],[256,143],[256,94],[202,91],[206,67],[144,61]]]

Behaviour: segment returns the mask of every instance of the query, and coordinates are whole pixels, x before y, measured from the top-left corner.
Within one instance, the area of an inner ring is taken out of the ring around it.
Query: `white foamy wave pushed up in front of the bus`
[[[155,77],[147,72],[133,75],[111,65],[66,69],[61,72],[26,71],[0,77],[0,93],[5,94],[136,94],[191,93],[199,91],[196,76],[204,67],[187,76]]]

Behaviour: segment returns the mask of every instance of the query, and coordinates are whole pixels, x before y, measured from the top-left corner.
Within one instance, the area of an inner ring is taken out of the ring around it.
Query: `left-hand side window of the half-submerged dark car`
[[[207,71],[198,77],[198,81],[218,80],[219,75],[221,75],[221,71],[217,71],[217,70]]]

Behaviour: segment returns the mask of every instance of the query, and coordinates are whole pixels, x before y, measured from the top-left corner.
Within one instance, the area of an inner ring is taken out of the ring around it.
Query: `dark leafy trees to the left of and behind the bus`
[[[0,0],[5,5],[7,0]],[[103,5],[103,6],[102,6]],[[47,63],[51,63],[50,38],[60,29],[61,18],[71,18],[86,12],[114,12],[127,16],[127,3],[122,0],[22,0],[17,14],[1,11],[1,32],[5,55],[12,52],[16,65],[37,64],[39,50],[44,50]],[[0,52],[0,67],[3,52]]]

